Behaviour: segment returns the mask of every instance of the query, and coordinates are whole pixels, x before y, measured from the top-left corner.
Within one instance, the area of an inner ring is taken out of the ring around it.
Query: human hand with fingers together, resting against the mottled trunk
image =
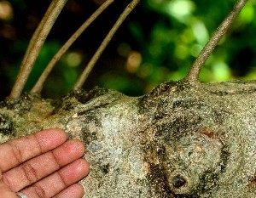
[[[84,145],[67,140],[61,129],[47,129],[0,144],[0,198],[84,195],[79,180],[89,173]]]

